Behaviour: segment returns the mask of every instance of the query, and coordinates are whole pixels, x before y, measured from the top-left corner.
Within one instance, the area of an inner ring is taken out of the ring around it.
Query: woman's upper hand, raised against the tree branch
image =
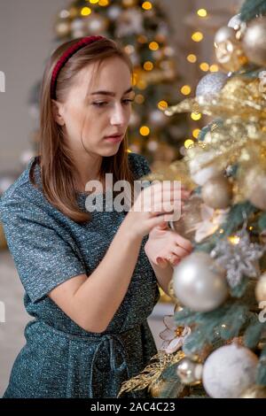
[[[173,220],[174,212],[181,210],[183,201],[189,195],[190,192],[183,186],[180,188],[177,181],[172,181],[170,189],[163,187],[162,182],[156,182],[138,194],[124,220],[124,225],[129,228],[131,234],[143,238],[153,227]]]

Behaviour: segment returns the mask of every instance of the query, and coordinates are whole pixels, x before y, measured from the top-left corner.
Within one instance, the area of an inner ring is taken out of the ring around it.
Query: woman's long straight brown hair
[[[82,38],[61,44],[52,53],[46,64],[40,96],[39,150],[35,163],[40,163],[43,195],[46,199],[71,220],[82,223],[91,219],[90,212],[83,212],[77,204],[77,193],[74,189],[74,177],[76,177],[77,170],[71,152],[66,146],[66,141],[63,140],[62,127],[54,118],[51,100],[51,73],[53,68],[65,50],[80,39]],[[56,89],[58,101],[64,102],[68,89],[74,83],[75,75],[85,66],[92,63],[100,65],[104,59],[111,57],[121,58],[129,66],[132,75],[131,61],[122,47],[111,39],[100,39],[78,50],[61,69]],[[135,178],[129,168],[127,148],[128,137],[126,135],[115,155],[103,157],[99,176],[102,180],[106,173],[113,173],[113,183],[121,180],[129,181],[133,192]],[[36,186],[35,163],[31,166],[29,173],[30,181],[34,186]],[[132,196],[131,200],[133,201]]]

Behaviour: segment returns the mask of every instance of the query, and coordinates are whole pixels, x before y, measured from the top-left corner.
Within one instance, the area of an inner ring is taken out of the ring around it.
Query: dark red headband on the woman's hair
[[[89,45],[92,42],[96,42],[100,39],[104,39],[103,36],[86,36],[83,37],[79,42],[74,43],[74,45],[70,46],[59,58],[57,65],[53,68],[52,75],[51,75],[51,99],[56,100],[56,87],[57,87],[57,79],[59,76],[59,72],[61,71],[62,67],[66,64],[69,58],[71,58],[75,52],[82,49],[83,46]]]

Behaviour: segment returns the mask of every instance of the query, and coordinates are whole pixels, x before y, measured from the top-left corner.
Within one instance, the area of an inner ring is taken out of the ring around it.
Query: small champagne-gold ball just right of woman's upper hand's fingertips
[[[208,206],[223,210],[231,204],[231,183],[223,176],[209,179],[201,189],[201,197]]]

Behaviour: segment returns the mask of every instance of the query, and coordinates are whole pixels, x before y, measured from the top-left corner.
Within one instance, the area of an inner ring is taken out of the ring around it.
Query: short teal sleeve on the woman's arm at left
[[[86,273],[73,248],[37,205],[18,198],[0,204],[4,234],[24,289],[37,302],[60,283]]]

